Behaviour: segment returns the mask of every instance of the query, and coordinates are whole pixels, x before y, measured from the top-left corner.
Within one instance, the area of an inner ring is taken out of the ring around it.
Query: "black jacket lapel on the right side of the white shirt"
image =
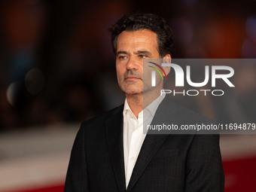
[[[168,111],[168,113],[165,113],[164,111]],[[154,115],[151,124],[174,122],[177,120],[177,112],[178,111],[175,105],[172,105],[172,102],[166,96],[166,98],[163,99],[163,102],[161,102],[159,107],[157,108],[156,114]],[[136,184],[136,181],[139,180],[139,177],[148,166],[148,163],[150,163],[152,157],[168,136],[168,134],[147,134],[147,136],[145,137],[145,141],[143,142],[141,151],[139,152],[139,157],[136,161],[136,165],[134,166],[133,174],[130,178],[127,191],[130,191],[133,188],[134,184]]]

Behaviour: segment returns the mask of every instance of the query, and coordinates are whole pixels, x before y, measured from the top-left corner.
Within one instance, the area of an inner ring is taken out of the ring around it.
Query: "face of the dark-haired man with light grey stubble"
[[[116,69],[117,81],[123,92],[143,93],[143,59],[152,58],[160,58],[155,32],[143,29],[120,33],[117,38]],[[150,85],[146,84],[147,87]]]

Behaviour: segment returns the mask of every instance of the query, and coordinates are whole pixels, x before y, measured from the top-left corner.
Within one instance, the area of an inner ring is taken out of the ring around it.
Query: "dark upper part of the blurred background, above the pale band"
[[[108,28],[123,14],[166,18],[175,58],[255,58],[256,2],[3,0],[0,130],[81,122],[123,102]]]

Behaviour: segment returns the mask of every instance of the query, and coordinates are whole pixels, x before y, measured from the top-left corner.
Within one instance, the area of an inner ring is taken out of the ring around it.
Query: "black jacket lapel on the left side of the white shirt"
[[[116,108],[105,122],[111,165],[120,191],[125,191],[123,160],[123,106]]]

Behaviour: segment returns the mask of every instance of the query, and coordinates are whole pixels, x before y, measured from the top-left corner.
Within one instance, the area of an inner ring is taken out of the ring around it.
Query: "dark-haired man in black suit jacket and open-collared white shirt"
[[[143,78],[143,59],[171,59],[172,32],[165,20],[154,14],[123,16],[111,35],[126,100],[82,123],[65,191],[224,191],[218,135],[142,133],[143,114],[149,124],[208,122],[160,96],[161,78],[156,87]]]

